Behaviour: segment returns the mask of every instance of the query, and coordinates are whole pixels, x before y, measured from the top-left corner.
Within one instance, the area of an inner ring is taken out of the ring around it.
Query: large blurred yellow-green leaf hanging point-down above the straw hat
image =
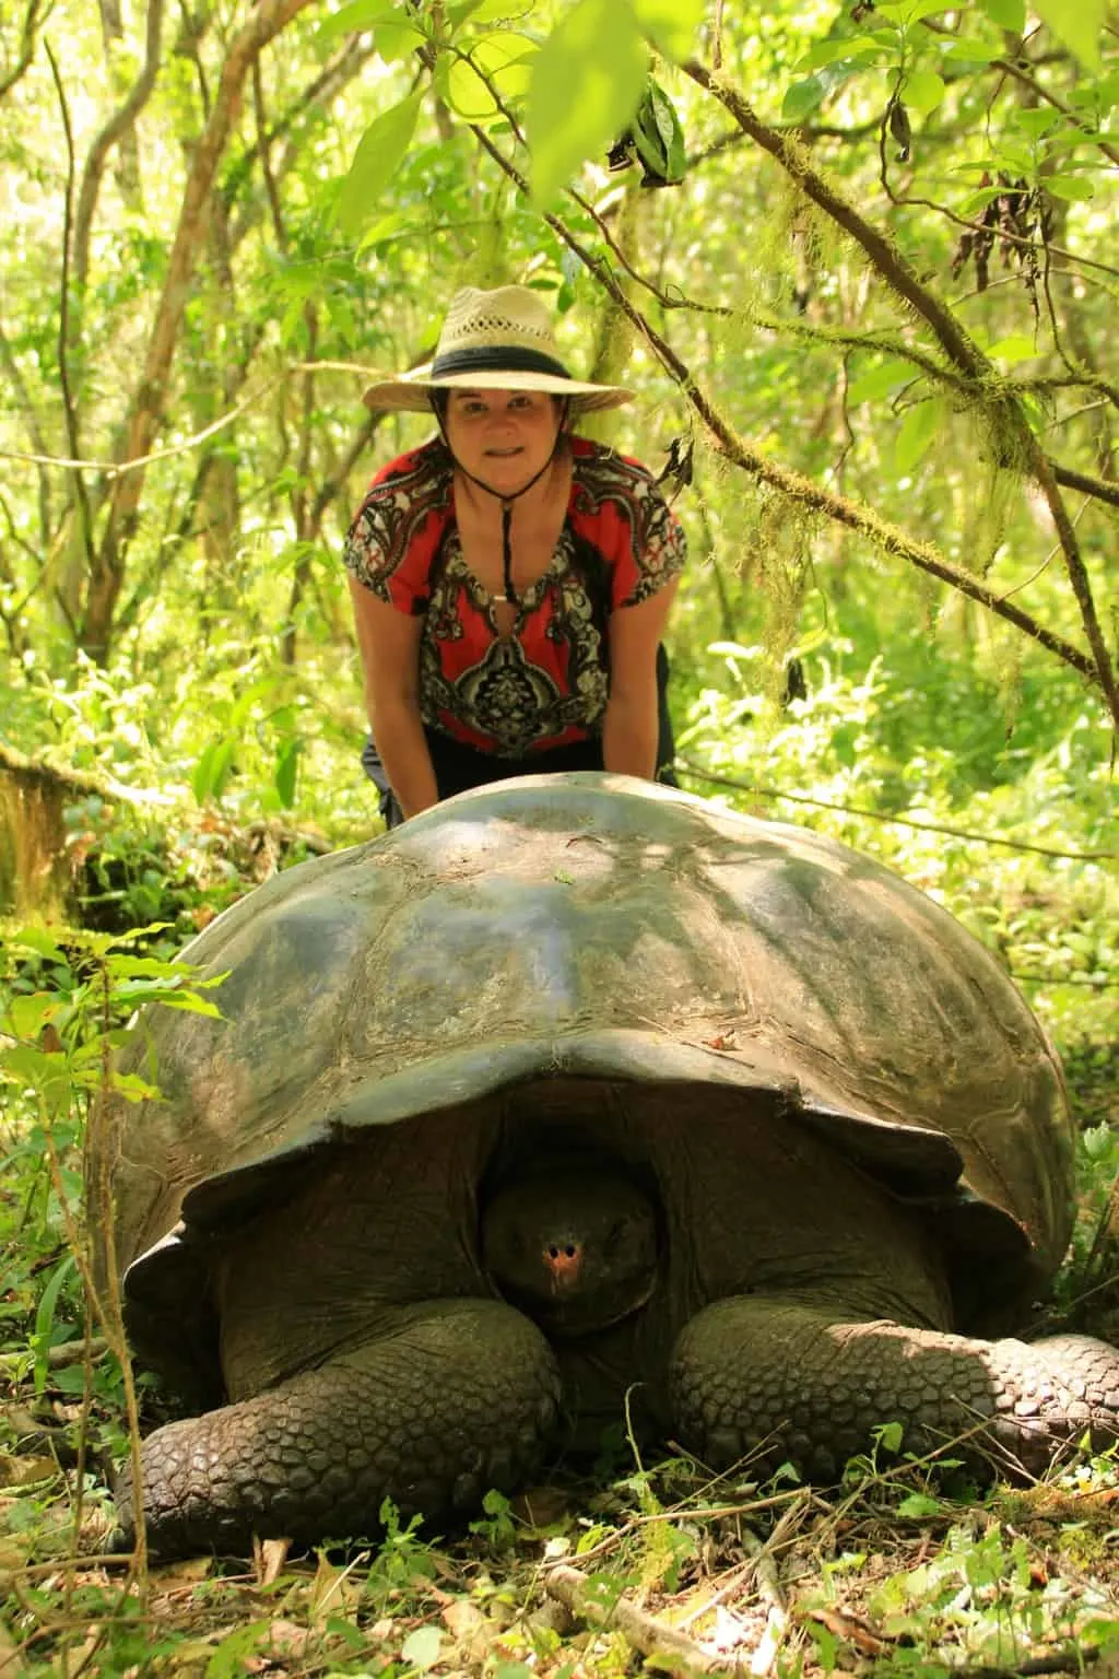
[[[528,91],[532,193],[552,203],[587,158],[627,126],[649,54],[626,0],[579,0],[537,54]]]

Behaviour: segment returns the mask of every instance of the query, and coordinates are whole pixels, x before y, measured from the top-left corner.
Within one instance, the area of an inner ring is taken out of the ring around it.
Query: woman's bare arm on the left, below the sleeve
[[[411,618],[349,578],[357,646],[366,673],[366,712],[381,762],[404,816],[438,804],[431,754],[419,720],[419,636]]]

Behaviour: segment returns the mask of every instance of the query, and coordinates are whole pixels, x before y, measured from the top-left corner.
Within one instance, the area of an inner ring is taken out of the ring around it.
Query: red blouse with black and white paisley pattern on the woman
[[[609,692],[607,626],[684,564],[679,520],[636,460],[570,438],[572,485],[552,562],[497,628],[463,559],[451,458],[440,438],[391,460],[346,541],[346,566],[401,613],[423,616],[419,715],[453,740],[522,757],[596,735]]]

